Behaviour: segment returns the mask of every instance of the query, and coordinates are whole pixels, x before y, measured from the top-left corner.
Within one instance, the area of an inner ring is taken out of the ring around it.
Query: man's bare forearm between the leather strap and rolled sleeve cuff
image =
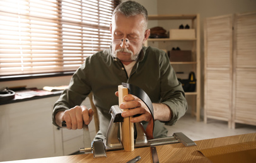
[[[153,103],[154,120],[169,121],[172,118],[171,109],[163,103]]]

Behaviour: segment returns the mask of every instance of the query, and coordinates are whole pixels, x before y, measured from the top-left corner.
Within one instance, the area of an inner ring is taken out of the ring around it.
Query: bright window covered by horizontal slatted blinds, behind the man
[[[1,0],[0,76],[74,71],[109,48],[114,0]]]

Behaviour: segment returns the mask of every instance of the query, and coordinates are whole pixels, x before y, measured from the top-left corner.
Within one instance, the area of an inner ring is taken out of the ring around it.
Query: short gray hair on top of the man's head
[[[141,14],[141,15],[144,16],[144,18],[146,20],[145,25],[148,24],[148,11],[147,11],[147,9],[144,8],[144,6],[142,6],[141,4],[139,4],[135,1],[125,1],[121,4],[119,4],[119,6],[117,6],[117,8],[115,8],[115,10],[113,11],[112,19],[113,19],[113,16],[116,13],[124,14],[127,17],[136,16],[138,14]]]

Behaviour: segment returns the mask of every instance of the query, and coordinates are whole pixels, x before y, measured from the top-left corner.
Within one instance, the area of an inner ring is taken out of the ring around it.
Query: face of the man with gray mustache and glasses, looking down
[[[126,17],[120,13],[115,14],[112,20],[112,53],[125,65],[136,60],[143,42],[148,38],[145,36],[148,34],[145,32],[145,23],[141,15]]]

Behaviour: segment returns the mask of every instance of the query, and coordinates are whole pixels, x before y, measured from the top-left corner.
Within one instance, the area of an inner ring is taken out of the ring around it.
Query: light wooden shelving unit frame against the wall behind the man
[[[199,14],[180,14],[180,15],[149,15],[149,21],[158,20],[158,21],[173,21],[173,20],[190,20],[191,29],[195,29],[195,38],[191,39],[171,39],[171,38],[149,38],[144,46],[148,46],[149,43],[172,43],[187,42],[192,43],[192,61],[186,62],[170,62],[173,68],[175,66],[182,66],[187,70],[187,73],[190,71],[195,72],[195,77],[197,79],[196,90],[195,92],[185,92],[186,96],[194,96],[191,107],[192,115],[196,116],[197,121],[200,121],[201,113],[201,58],[200,58],[200,16]],[[182,29],[181,29],[182,30]],[[170,48],[171,46],[169,46]],[[178,69],[178,68],[177,68]],[[177,71],[177,70],[175,70]],[[195,111],[196,110],[196,111]]]

